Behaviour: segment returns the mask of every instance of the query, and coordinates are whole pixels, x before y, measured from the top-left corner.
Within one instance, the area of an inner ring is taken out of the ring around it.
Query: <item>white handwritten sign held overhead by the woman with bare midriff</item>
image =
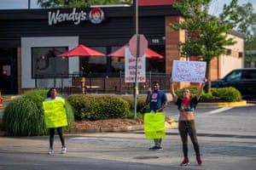
[[[207,63],[205,61],[173,60],[173,82],[203,82],[206,77]]]

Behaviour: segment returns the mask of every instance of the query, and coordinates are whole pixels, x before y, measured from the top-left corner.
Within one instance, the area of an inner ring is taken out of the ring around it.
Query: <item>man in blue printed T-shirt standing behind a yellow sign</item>
[[[153,82],[153,91],[149,88],[146,104],[149,104],[150,112],[162,112],[167,105],[167,97],[164,91],[160,90],[160,83]],[[154,146],[149,150],[163,150],[161,147],[162,139],[154,139]]]

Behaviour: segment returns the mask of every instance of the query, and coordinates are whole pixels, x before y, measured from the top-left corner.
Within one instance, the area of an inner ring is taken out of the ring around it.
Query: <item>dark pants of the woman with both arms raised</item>
[[[195,121],[179,121],[178,131],[183,142],[183,156],[188,157],[188,134],[193,143],[195,155],[200,156],[199,144],[196,137]]]

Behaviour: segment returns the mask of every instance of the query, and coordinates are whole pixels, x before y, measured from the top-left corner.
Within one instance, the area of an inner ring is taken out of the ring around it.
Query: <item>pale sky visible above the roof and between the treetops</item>
[[[38,8],[38,0],[30,0],[31,8]],[[0,0],[0,9],[28,8],[29,0]],[[212,0],[210,14],[216,15],[222,11],[224,3],[230,3],[231,0]],[[244,3],[252,3],[256,13],[256,0],[238,0],[239,5]]]

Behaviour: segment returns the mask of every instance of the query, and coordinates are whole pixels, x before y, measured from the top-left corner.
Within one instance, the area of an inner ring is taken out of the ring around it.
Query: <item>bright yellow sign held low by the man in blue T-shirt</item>
[[[147,139],[166,137],[165,118],[166,116],[161,112],[144,114],[144,133]]]

